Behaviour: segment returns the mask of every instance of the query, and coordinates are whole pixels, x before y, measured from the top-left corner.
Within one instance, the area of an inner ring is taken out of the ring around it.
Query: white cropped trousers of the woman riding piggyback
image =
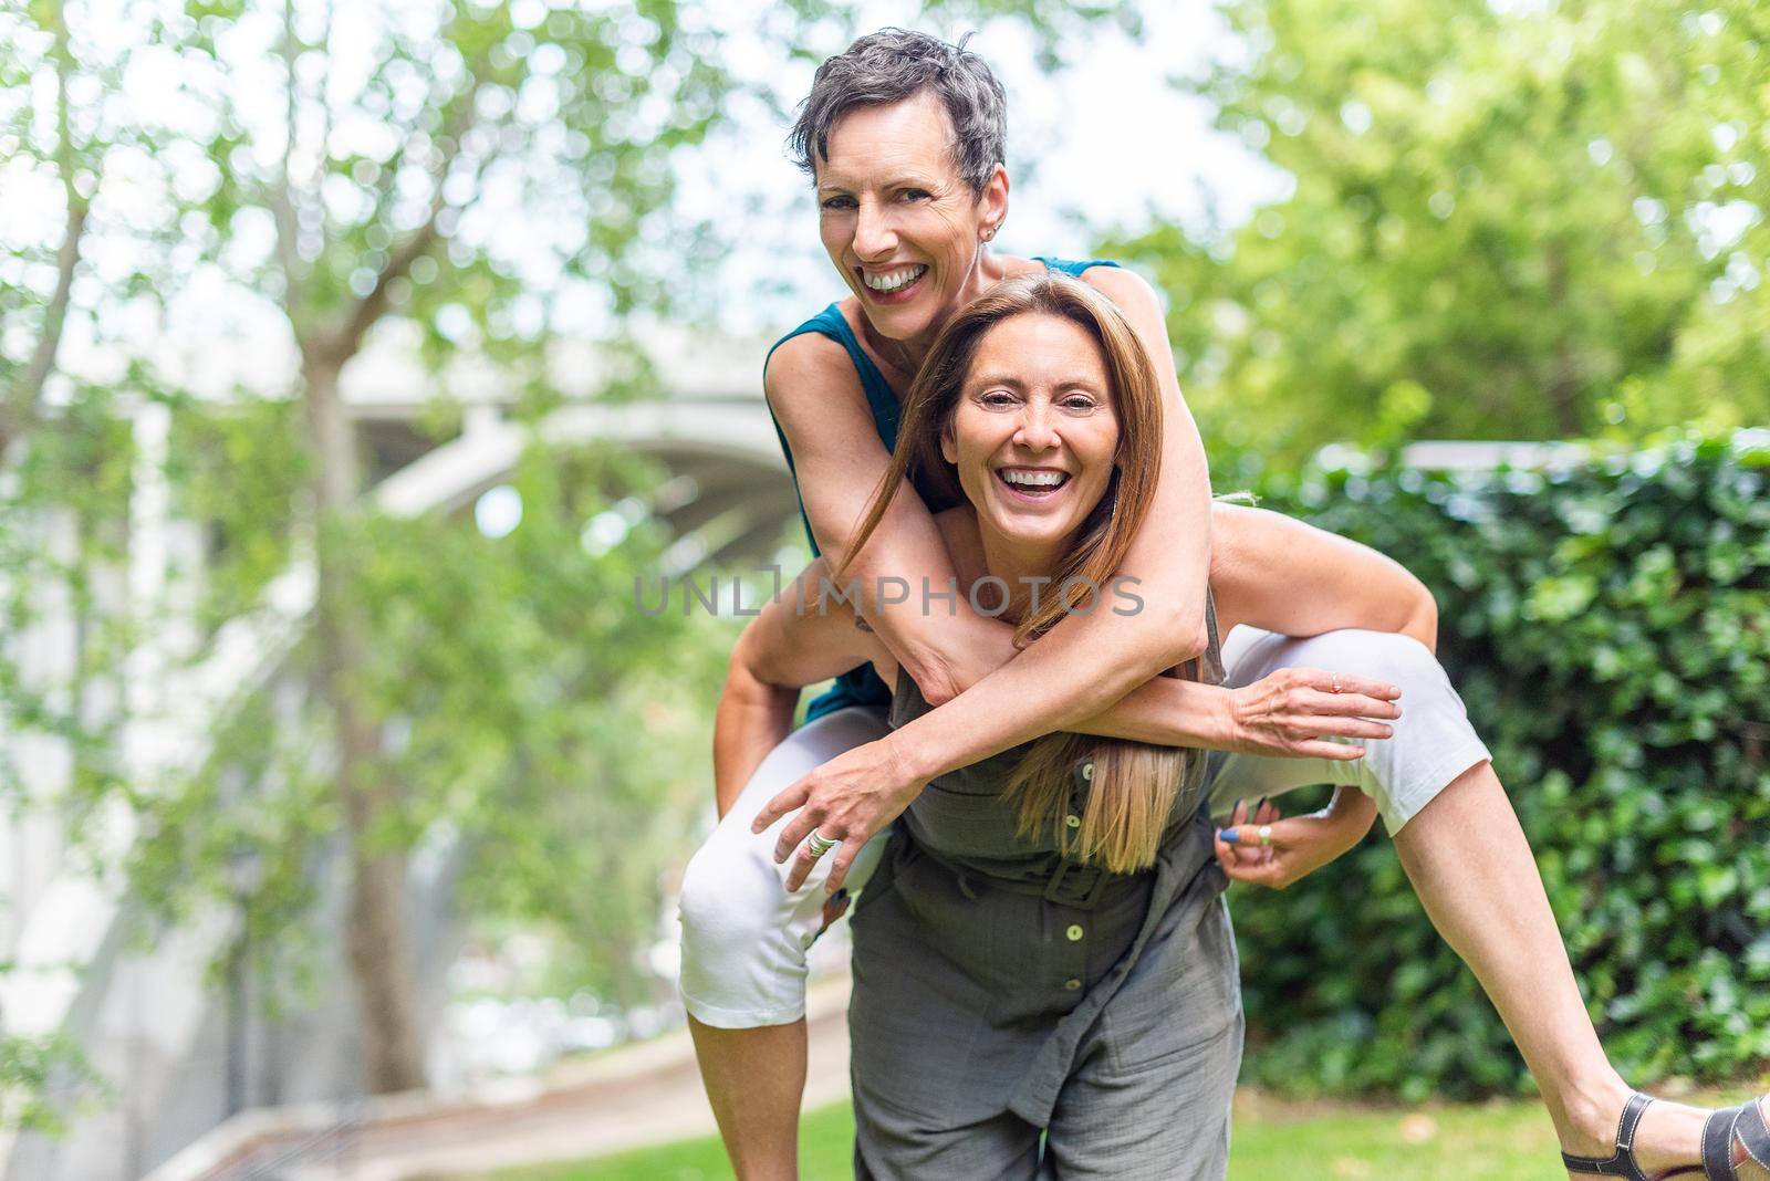
[[[1287,667],[1326,668],[1388,681],[1402,690],[1395,735],[1365,743],[1365,757],[1269,758],[1211,755],[1211,813],[1237,799],[1340,783],[1377,801],[1389,833],[1398,831],[1457,776],[1489,758],[1444,668],[1418,640],[1386,631],[1331,631],[1308,640],[1237,628],[1223,645],[1228,684],[1243,686]],[[689,861],[681,884],[681,999],[704,1025],[750,1029],[784,1025],[805,1015],[805,951],[823,930],[823,875],[830,857],[796,893],[791,866],[775,865],[781,826],[750,833],[761,806],[793,780],[835,755],[887,734],[885,711],[850,707],[795,730],[768,753],[731,811]],[[873,873],[887,833],[874,836],[848,872],[858,893]]]

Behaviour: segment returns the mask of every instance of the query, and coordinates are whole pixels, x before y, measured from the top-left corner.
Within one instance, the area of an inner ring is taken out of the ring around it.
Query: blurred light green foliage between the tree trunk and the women
[[[621,490],[655,483],[609,449],[536,446],[510,479],[522,522],[508,536],[372,520],[359,548],[373,555],[358,590],[375,636],[365,697],[405,789],[407,833],[391,838],[457,829],[467,912],[549,935],[550,983],[620,1002],[657,988],[639,956],[662,870],[712,797],[706,704],[731,642],[706,617],[637,610],[635,580],[664,560],[655,525],[586,543],[588,522],[639,504]]]

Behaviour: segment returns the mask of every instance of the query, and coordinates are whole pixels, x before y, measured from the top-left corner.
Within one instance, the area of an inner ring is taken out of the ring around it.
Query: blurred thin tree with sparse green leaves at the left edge
[[[103,829],[88,819],[122,787],[135,447],[117,412],[127,396],[60,373],[57,357],[71,329],[83,341],[99,331],[76,292],[94,283],[92,226],[119,212],[101,191],[106,171],[158,134],[152,120],[122,120],[104,101],[133,48],[83,42],[62,4],[0,9],[0,193],[28,210],[0,219],[0,810],[23,810],[44,780],[18,739],[50,735],[67,755],[57,808],[73,829]],[[106,278],[119,293],[143,283],[133,260],[108,260]],[[46,613],[65,626],[53,661],[25,635]],[[11,905],[0,896],[0,911]],[[14,971],[7,951],[0,948],[0,974]],[[19,1034],[5,1017],[0,1137],[55,1130],[92,1073],[71,1040]],[[62,1086],[51,1089],[51,1077]]]

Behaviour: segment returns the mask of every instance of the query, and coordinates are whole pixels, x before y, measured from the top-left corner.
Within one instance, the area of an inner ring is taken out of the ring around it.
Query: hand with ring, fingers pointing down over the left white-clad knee
[[[915,778],[894,737],[885,735],[837,755],[756,813],[750,831],[761,833],[798,808],[798,815],[781,829],[781,840],[775,842],[777,863],[784,863],[793,849],[798,849],[793,872],[786,879],[788,889],[804,886],[805,875],[818,865],[811,843],[805,842],[812,831],[825,840],[841,842],[834,850],[827,850],[835,861],[830,863],[830,877],[823,888],[834,895],[843,888],[848,866],[853,865],[860,847],[896,820],[926,787],[924,780]]]

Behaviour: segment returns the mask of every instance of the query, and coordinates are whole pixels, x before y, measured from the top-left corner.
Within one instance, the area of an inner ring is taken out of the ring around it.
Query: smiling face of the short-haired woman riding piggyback
[[[818,163],[823,249],[873,327],[917,341],[981,293],[982,242],[1007,216],[1007,173],[959,177],[952,120],[931,92],[843,115]]]

